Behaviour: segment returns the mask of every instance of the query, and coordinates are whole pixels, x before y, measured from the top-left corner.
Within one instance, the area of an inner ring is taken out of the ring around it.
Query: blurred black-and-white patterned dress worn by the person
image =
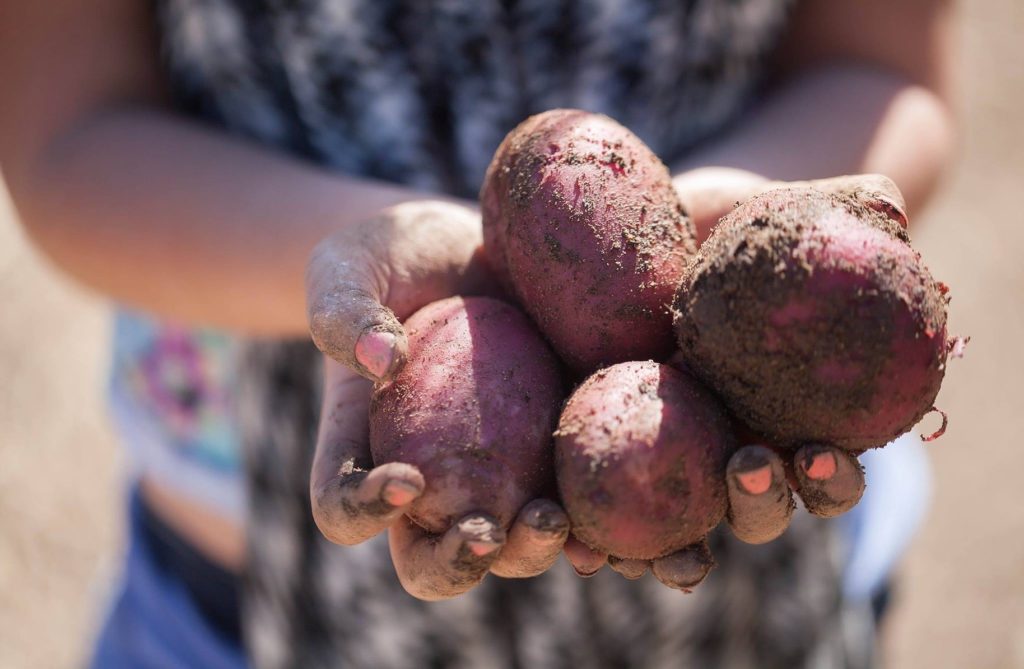
[[[784,0],[158,0],[180,109],[327,169],[475,196],[531,113],[609,114],[667,163],[733,120],[763,78]],[[170,326],[167,326],[170,327]],[[158,334],[162,326],[156,327]],[[174,350],[188,348],[175,331]],[[198,340],[208,337],[203,333]],[[225,335],[226,337],[226,335]],[[692,595],[560,562],[471,593],[407,595],[386,539],[343,548],[311,520],[319,359],[232,342],[205,396],[238,400],[248,497],[245,626],[260,667],[856,667],[866,611],[840,595],[839,547],[799,514],[781,540],[713,536]],[[217,356],[223,346],[197,349]],[[189,369],[218,368],[189,365]],[[240,475],[240,480],[242,476]]]

